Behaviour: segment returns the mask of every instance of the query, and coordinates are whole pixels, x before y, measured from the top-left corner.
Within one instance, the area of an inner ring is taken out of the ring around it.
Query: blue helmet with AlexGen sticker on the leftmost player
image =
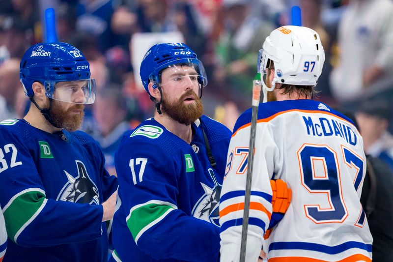
[[[47,97],[70,103],[75,103],[71,95],[77,90],[72,83],[80,81],[82,84],[79,85],[84,92],[82,104],[94,103],[95,80],[90,78],[90,65],[77,48],[66,43],[39,43],[31,46],[21,60],[20,80],[25,94],[30,98],[34,95],[33,83],[39,82],[44,85]],[[61,86],[62,91],[55,93],[59,82],[62,84],[58,89]]]

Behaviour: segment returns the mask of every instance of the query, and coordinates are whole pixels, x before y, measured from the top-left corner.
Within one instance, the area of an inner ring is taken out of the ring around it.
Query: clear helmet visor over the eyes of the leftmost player
[[[95,79],[76,81],[45,81],[47,97],[73,104],[92,104],[95,100]]]

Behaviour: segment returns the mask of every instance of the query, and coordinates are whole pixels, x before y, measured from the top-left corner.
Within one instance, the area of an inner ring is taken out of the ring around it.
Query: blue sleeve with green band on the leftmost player
[[[0,204],[12,241],[44,247],[101,236],[102,206],[47,199],[28,148],[3,130],[0,163]]]

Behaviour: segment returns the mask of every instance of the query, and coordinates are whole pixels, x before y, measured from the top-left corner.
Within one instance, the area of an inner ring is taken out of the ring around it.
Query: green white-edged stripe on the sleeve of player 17
[[[127,219],[128,229],[131,231],[135,242],[138,244],[140,235],[160,222],[166,215],[174,210],[173,206],[165,204],[144,204],[131,210]]]

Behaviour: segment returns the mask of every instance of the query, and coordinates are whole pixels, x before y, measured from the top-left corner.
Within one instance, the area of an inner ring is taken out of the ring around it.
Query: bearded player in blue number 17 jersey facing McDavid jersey
[[[151,47],[140,77],[157,112],[126,134],[115,154],[111,259],[217,262],[218,201],[231,132],[202,115],[206,73],[185,44]]]

